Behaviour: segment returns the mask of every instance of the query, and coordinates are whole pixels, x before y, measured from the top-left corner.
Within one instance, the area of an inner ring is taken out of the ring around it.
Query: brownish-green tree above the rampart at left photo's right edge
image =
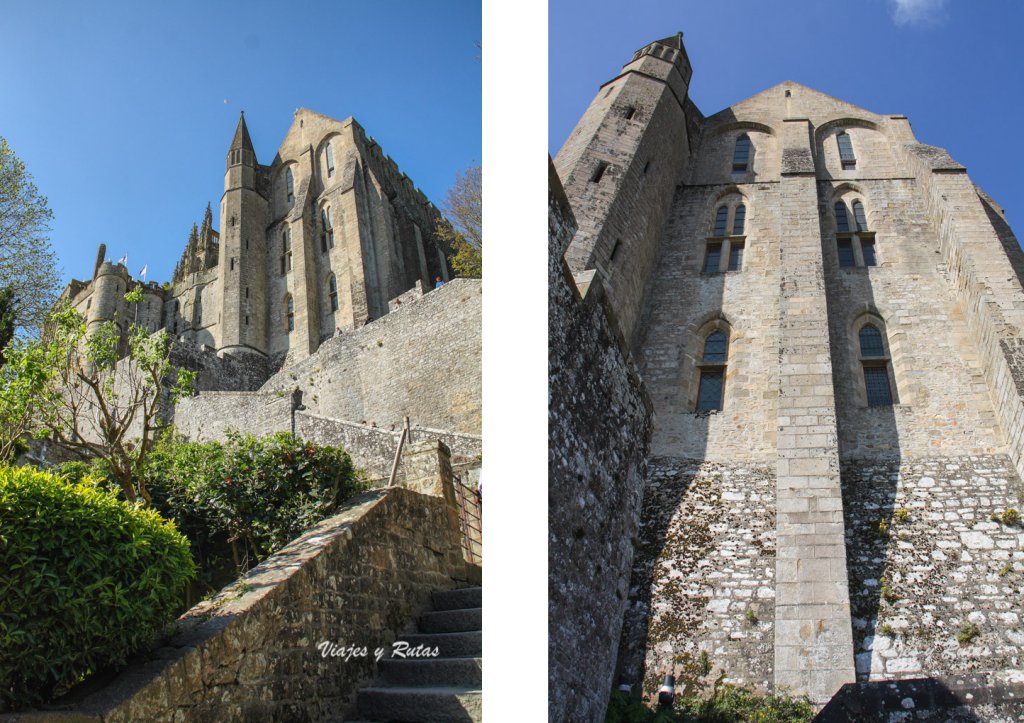
[[[483,171],[470,166],[457,173],[444,197],[444,216],[436,233],[452,249],[452,267],[460,277],[480,278],[483,271]]]

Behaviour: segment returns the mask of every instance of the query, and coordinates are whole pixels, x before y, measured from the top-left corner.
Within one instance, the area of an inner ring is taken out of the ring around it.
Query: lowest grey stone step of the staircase
[[[371,721],[417,723],[482,720],[479,688],[362,688],[357,697],[360,716]]]

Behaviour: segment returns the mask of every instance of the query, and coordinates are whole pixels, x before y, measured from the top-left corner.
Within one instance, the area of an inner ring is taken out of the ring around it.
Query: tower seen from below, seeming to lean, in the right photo
[[[565,259],[601,275],[632,338],[699,112],[683,34],[650,43],[605,82],[555,158],[580,228]]]

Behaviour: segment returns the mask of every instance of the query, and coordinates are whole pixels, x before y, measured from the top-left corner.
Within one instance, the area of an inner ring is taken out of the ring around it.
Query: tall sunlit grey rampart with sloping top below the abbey
[[[261,392],[301,389],[310,414],[480,431],[480,282],[456,279],[372,324],[326,341]]]

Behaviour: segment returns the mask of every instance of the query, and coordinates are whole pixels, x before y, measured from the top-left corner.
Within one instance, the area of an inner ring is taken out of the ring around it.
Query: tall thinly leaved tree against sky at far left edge
[[[0,288],[10,290],[16,329],[30,335],[42,327],[59,291],[47,238],[52,219],[25,163],[0,137]]]

